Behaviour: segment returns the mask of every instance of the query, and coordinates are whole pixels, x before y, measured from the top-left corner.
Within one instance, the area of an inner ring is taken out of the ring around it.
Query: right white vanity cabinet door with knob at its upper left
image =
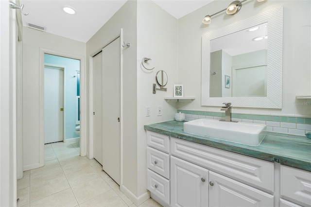
[[[209,171],[209,207],[273,207],[274,196]]]

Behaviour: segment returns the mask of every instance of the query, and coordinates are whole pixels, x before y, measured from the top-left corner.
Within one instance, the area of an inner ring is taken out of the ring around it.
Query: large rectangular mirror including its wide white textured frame
[[[282,108],[282,70],[283,7],[208,32],[202,36],[201,104]]]

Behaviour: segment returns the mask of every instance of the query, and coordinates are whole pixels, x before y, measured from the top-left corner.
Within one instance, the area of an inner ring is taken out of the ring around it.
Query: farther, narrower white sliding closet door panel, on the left
[[[94,158],[103,165],[102,52],[93,57],[93,143]]]

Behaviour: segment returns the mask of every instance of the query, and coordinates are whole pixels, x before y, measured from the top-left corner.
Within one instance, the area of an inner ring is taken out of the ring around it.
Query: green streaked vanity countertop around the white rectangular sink
[[[186,133],[184,132],[183,123],[184,122],[178,121],[165,121],[145,125],[144,129],[174,138],[181,138],[210,147],[311,171],[311,139],[307,137],[268,132],[267,136],[258,146],[249,146]]]

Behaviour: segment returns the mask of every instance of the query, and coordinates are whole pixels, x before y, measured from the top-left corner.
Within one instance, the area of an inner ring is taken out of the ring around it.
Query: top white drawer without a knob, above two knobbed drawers
[[[147,131],[147,145],[165,153],[170,153],[170,138],[167,135]]]

